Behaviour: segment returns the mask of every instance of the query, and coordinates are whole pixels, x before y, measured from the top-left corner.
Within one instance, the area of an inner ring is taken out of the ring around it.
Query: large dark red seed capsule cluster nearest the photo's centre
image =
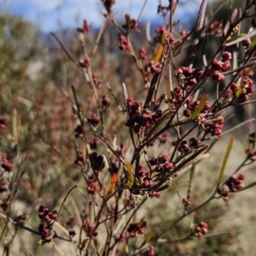
[[[125,123],[135,133],[139,133],[143,128],[152,127],[162,116],[162,111],[159,109],[151,112],[144,109],[138,102],[133,101],[133,98],[128,99],[129,117]],[[124,109],[125,110],[125,109]]]

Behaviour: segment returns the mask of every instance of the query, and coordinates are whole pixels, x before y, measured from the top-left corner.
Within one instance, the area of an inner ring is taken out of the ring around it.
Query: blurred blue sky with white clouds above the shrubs
[[[184,4],[177,9],[177,15],[191,15],[199,8],[200,0],[180,1]],[[113,13],[124,17],[126,13],[137,19],[143,7],[144,0],[116,0]],[[162,3],[168,3],[162,0]],[[156,18],[158,0],[148,0],[143,11],[143,20]],[[54,32],[61,24],[62,28],[80,26],[82,20],[88,20],[92,26],[102,24],[104,9],[100,0],[0,0],[0,9],[15,15],[21,15],[26,20],[36,23],[43,32]]]

